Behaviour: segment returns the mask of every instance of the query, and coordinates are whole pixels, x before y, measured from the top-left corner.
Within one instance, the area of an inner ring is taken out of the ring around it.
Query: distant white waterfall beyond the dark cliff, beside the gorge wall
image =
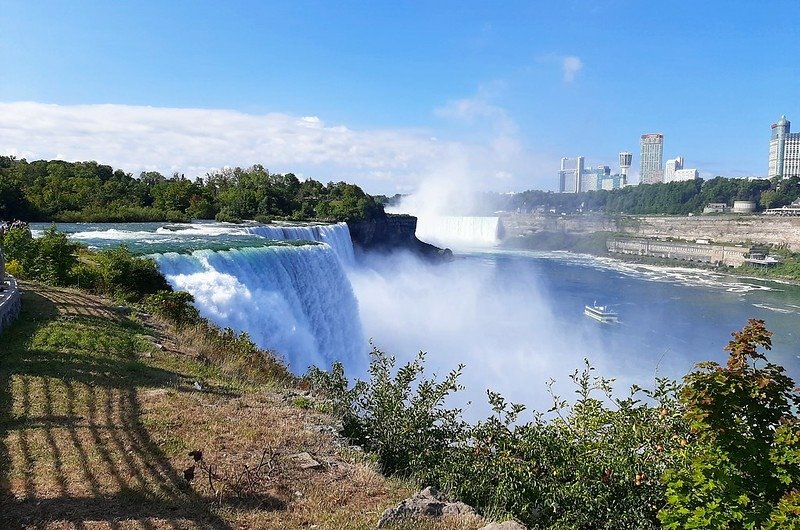
[[[487,247],[497,244],[501,231],[499,217],[420,216],[416,235],[439,246]]]

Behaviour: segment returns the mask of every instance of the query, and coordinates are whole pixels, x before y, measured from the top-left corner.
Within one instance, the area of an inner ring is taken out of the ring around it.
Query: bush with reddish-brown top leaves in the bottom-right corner
[[[800,396],[757,350],[771,348],[771,335],[750,320],[725,348],[727,366],[700,363],[686,376],[692,440],[664,475],[665,528],[798,527]]]

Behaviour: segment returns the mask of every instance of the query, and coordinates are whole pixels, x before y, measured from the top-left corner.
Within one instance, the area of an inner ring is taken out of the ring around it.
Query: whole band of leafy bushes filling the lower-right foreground
[[[489,392],[493,414],[466,424],[446,408],[461,367],[423,378],[424,355],[395,370],[373,350],[370,379],[350,385],[340,364],[307,378],[343,432],[387,473],[411,475],[480,510],[530,528],[800,529],[800,398],[766,363],[770,332],[751,320],[728,345],[728,366],[701,363],[684,384],[658,379],[614,397],[586,363],[577,399],[553,395],[548,414]]]

